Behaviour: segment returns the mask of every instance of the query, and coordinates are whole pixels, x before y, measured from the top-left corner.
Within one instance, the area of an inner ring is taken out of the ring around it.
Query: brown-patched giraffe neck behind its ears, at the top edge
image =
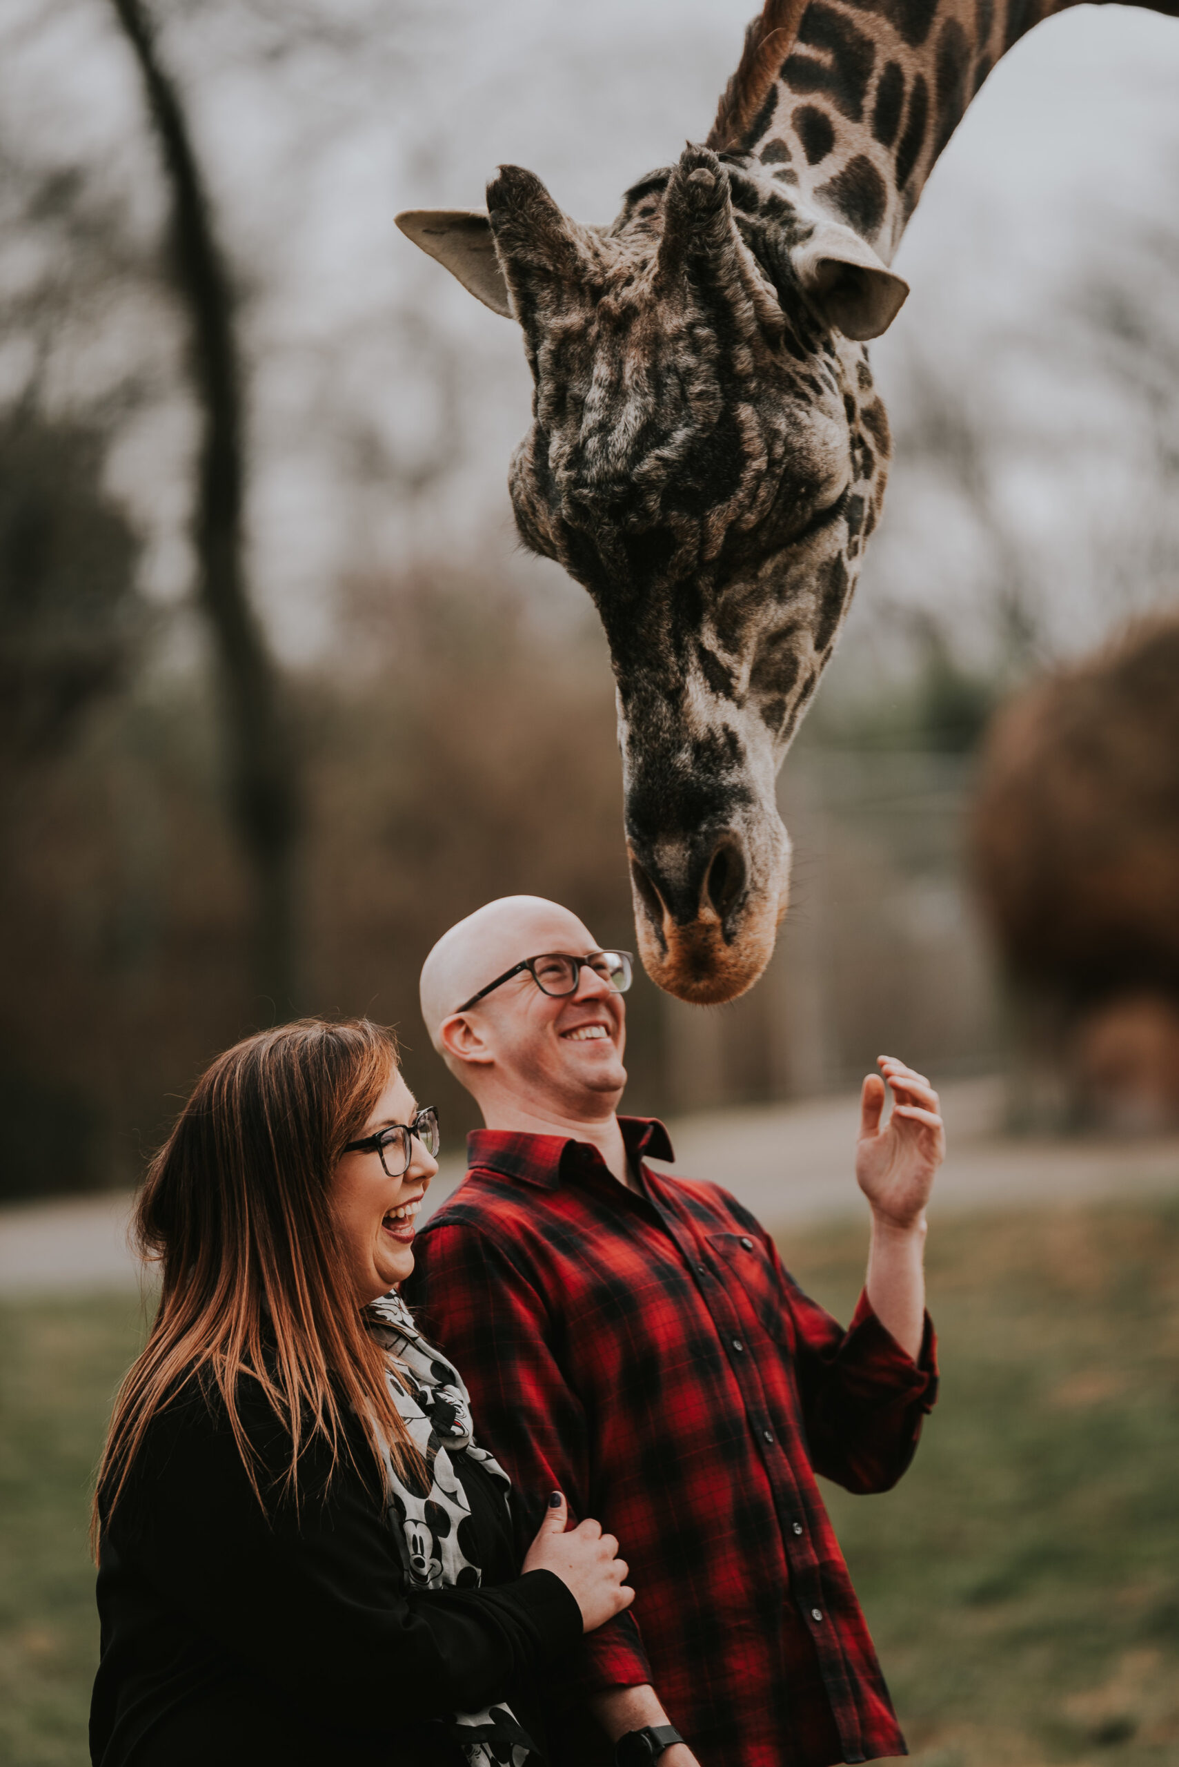
[[[999,57],[1075,0],[810,0],[741,152],[890,263]],[[1158,11],[1170,12],[1163,4]]]

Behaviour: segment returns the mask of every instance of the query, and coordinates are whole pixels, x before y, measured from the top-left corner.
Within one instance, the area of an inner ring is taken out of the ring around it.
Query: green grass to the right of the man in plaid
[[[861,1244],[784,1251],[845,1318]],[[912,1755],[1179,1763],[1179,1207],[939,1223],[928,1263],[918,1456],[824,1491]]]

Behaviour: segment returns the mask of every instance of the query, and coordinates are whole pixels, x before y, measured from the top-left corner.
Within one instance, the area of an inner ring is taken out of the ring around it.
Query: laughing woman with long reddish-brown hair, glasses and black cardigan
[[[101,1767],[522,1767],[540,1673],[630,1604],[559,1491],[521,1566],[507,1474],[395,1292],[436,1152],[392,1035],[304,1020],[219,1057],[154,1159],[161,1304],[94,1511]]]

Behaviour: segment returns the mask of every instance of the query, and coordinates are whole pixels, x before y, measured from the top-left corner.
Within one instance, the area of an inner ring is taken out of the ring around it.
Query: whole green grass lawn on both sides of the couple
[[[845,1318],[865,1235],[787,1235]],[[942,1399],[831,1511],[920,1767],[1179,1767],[1179,1207],[935,1225]],[[0,1767],[81,1767],[88,1479],[132,1299],[0,1308]]]

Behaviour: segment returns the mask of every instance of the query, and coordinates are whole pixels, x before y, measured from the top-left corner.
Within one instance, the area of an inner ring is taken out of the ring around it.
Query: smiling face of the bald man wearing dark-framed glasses
[[[549,951],[584,958],[597,949],[575,915],[563,908],[535,910],[517,924],[496,928],[478,986],[524,958]],[[563,998],[542,993],[522,970],[464,1016],[489,1046],[499,1081],[531,1110],[588,1119],[614,1110],[627,1085],[627,1007],[591,968],[579,972],[577,991]]]

